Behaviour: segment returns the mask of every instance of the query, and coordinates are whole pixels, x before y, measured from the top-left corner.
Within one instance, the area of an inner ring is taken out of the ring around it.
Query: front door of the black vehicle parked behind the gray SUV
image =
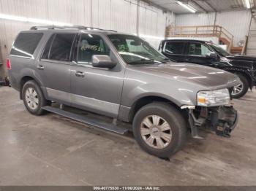
[[[217,59],[210,58],[208,55],[213,52],[206,44],[200,42],[188,42],[187,43],[187,57],[186,62],[197,63],[204,66],[214,66]]]

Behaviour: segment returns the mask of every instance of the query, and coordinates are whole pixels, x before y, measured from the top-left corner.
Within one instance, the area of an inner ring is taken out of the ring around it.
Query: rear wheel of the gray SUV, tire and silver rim
[[[22,98],[26,109],[34,115],[45,114],[45,110],[42,107],[50,104],[50,101],[45,99],[42,90],[34,80],[30,80],[23,85]]]

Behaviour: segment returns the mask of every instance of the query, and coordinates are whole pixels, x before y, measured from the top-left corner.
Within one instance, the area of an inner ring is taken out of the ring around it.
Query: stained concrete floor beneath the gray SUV
[[[0,185],[255,185],[255,90],[234,102],[240,121],[230,139],[206,133],[166,161],[130,137],[35,117],[0,87]]]

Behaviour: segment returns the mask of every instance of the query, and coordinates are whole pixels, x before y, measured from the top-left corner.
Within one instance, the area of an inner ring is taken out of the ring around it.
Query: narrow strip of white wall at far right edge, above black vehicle
[[[256,55],[256,17],[252,17],[251,27],[249,29],[246,55]]]

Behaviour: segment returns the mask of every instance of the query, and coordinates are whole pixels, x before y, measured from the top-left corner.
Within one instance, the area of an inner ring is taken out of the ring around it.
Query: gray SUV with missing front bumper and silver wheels
[[[61,114],[116,133],[132,123],[140,147],[170,157],[198,128],[230,136],[238,114],[227,71],[175,63],[138,36],[83,26],[32,27],[18,34],[7,59],[10,82],[31,114]],[[54,106],[113,118],[106,123]],[[66,108],[66,107],[65,107]],[[118,125],[119,124],[119,125]]]

